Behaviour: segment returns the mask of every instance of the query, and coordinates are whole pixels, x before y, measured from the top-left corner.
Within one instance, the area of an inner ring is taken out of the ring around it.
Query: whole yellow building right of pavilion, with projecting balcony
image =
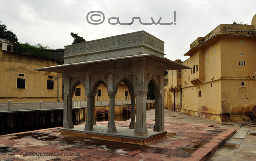
[[[165,107],[221,122],[250,122],[256,106],[256,14],[251,25],[220,24],[190,44],[169,71]]]

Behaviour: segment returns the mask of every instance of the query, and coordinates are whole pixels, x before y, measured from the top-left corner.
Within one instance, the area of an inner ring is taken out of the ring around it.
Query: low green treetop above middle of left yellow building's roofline
[[[50,58],[52,54],[48,51],[48,46],[42,46],[41,44],[31,45],[28,42],[20,43],[18,47],[18,51],[20,53],[29,52],[32,56],[39,56],[44,58]]]

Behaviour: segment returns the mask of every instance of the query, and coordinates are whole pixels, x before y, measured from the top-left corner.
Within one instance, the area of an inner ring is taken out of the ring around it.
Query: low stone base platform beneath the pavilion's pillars
[[[60,134],[135,145],[147,145],[167,137],[167,131],[157,132],[153,129],[148,129],[148,135],[141,137],[134,136],[134,129],[128,127],[116,126],[117,133],[108,133],[107,125],[97,124],[93,128],[94,131],[84,131],[84,125],[74,126],[72,129],[61,128]]]

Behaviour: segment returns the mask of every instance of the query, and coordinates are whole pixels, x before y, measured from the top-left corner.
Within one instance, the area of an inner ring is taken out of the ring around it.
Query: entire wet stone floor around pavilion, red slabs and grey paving
[[[147,110],[148,128],[154,126],[154,119],[155,109]],[[127,126],[128,122],[116,121],[116,125]],[[60,135],[59,128],[1,135],[0,160],[204,160],[232,129],[236,133],[206,160],[256,160],[254,123],[220,123],[165,109],[165,129],[167,138],[147,146]],[[45,156],[36,156],[40,154]]]

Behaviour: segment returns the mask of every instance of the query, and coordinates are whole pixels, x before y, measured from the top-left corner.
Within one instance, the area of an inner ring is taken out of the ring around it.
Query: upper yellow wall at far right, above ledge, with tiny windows
[[[240,44],[240,41],[244,44]],[[244,56],[240,53],[243,52]],[[221,38],[222,78],[252,78],[255,76],[255,38],[222,37]],[[253,61],[254,60],[254,61]],[[239,61],[246,61],[246,66],[239,66]]]

